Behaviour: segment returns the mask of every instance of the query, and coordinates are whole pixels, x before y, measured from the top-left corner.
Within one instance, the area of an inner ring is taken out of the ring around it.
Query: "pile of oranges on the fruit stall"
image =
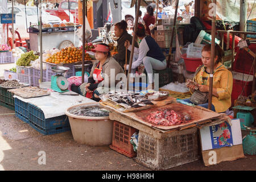
[[[92,60],[88,53],[85,54],[85,60]],[[69,64],[79,61],[82,61],[82,49],[76,47],[66,47],[46,59],[47,63],[54,64]]]

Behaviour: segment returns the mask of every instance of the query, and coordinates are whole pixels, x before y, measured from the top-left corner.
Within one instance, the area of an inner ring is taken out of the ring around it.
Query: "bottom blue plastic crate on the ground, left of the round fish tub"
[[[71,130],[70,126],[61,126],[61,127],[56,127],[53,129],[43,129],[42,127],[36,125],[35,123],[30,122],[30,126],[35,129],[36,131],[38,131],[39,133],[42,133],[43,135],[53,135],[53,134],[57,134],[57,133],[63,133],[65,131],[69,131]]]

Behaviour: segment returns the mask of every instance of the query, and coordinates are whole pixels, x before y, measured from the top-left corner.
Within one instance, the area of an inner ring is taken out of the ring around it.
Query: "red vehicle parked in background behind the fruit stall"
[[[69,1],[69,8],[68,1],[61,1],[57,9],[46,9],[46,12],[48,12],[51,15],[58,16],[61,20],[66,20],[67,22],[79,23],[77,1]]]

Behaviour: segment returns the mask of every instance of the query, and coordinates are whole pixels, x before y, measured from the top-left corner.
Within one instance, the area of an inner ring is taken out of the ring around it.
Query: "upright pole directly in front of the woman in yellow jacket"
[[[216,5],[216,0],[213,1]],[[214,57],[215,57],[215,33],[216,33],[216,6],[213,8],[212,17],[212,45],[210,47],[210,85],[209,85],[209,98],[208,98],[208,109],[212,109],[212,88],[213,88],[213,68],[214,68]]]

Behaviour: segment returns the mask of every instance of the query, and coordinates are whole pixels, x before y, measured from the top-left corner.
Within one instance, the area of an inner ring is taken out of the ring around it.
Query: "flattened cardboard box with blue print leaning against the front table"
[[[200,129],[201,148],[205,166],[244,158],[239,119],[204,126]]]

